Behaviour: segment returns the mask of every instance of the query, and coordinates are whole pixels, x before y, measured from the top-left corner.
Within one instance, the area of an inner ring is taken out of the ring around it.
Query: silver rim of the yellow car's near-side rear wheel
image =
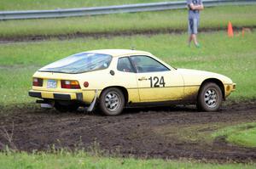
[[[114,111],[119,109],[119,96],[114,92],[109,92],[105,97],[105,106],[108,110]]]

